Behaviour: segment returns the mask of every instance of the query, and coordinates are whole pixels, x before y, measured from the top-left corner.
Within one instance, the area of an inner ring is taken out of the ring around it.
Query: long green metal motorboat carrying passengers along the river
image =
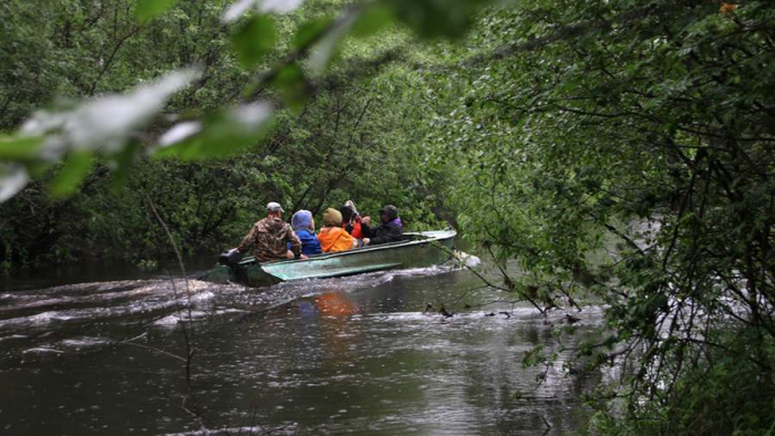
[[[404,233],[404,240],[400,242],[317,255],[300,260],[259,263],[250,257],[236,264],[218,264],[202,280],[216,283],[237,282],[259,288],[290,280],[430,267],[452,258],[455,235],[455,230]]]

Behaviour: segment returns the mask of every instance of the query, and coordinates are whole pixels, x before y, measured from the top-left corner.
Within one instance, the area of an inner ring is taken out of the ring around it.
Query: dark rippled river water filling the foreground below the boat
[[[565,434],[601,377],[568,376],[567,351],[524,368],[560,350],[564,312],[493,303],[509,295],[466,270],[264,290],[110,271],[0,282],[0,434],[198,434],[195,411],[230,434]],[[574,315],[565,344],[596,339],[600,310]]]

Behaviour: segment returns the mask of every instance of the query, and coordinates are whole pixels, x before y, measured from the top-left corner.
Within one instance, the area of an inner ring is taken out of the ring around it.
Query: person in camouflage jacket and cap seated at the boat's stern
[[[237,247],[237,251],[254,249],[256,260],[270,262],[278,259],[306,259],[301,253],[301,241],[291,226],[282,220],[282,207],[272,201],[267,205],[267,217],[256,222]],[[290,242],[291,249],[287,243]]]

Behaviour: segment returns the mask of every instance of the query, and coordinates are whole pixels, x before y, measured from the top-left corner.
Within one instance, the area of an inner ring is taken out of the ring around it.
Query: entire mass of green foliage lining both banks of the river
[[[190,251],[269,199],[393,203],[455,224],[542,312],[604,301],[578,350],[616,370],[591,432],[775,430],[775,4],[314,1],[224,23],[227,2],[42,3],[0,6],[0,170],[34,178],[1,206],[7,264],[161,255],[148,201]],[[101,141],[18,133],[56,95],[192,64]]]

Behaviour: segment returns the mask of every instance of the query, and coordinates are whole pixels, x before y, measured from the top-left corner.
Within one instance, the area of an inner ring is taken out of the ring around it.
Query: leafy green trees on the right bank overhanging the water
[[[606,301],[612,335],[580,353],[623,374],[596,425],[772,432],[775,8],[564,4],[504,10],[474,38],[515,42],[468,70],[431,134],[466,163],[461,225],[520,259],[504,287],[541,310]]]

